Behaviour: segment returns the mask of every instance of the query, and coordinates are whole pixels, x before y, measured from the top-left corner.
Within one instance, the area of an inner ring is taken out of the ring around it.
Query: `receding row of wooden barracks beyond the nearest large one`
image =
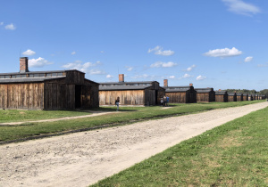
[[[248,101],[246,93],[214,91],[211,87],[194,88],[193,84],[169,86],[167,79],[163,80],[163,87],[157,81],[125,82],[124,74],[119,75],[118,82],[99,85],[100,105],[114,105],[117,97],[121,98],[121,105],[157,105],[163,95],[168,96],[171,103]],[[264,96],[258,98],[264,99]]]

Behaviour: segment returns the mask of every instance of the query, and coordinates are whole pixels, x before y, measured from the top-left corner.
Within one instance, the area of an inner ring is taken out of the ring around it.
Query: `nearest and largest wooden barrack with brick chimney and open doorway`
[[[20,72],[0,74],[0,109],[74,110],[98,107],[98,84],[79,70],[29,71],[21,57]]]

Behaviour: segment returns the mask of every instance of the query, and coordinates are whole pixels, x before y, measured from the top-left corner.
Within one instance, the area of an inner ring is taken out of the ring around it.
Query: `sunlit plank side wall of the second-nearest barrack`
[[[145,105],[144,90],[99,91],[99,105],[114,105],[120,97],[122,105]]]

